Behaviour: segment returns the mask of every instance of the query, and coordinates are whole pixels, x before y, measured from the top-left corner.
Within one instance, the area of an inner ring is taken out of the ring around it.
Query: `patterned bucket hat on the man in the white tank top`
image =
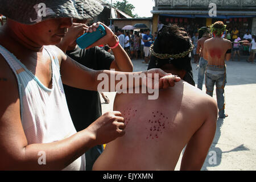
[[[101,13],[96,0],[0,0],[0,14],[23,24],[51,18],[88,19]]]

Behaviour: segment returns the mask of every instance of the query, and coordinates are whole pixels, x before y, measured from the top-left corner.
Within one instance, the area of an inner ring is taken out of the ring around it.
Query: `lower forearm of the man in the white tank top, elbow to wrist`
[[[22,170],[61,170],[79,158],[89,148],[95,146],[95,139],[86,129],[52,143],[30,144],[23,148],[15,166],[6,169]],[[40,157],[45,163],[39,163]]]

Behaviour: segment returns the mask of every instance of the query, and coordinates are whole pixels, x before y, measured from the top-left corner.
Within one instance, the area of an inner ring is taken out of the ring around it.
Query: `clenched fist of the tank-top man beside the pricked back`
[[[125,134],[124,122],[119,111],[109,111],[93,122],[88,129],[94,134],[96,143],[104,144]]]

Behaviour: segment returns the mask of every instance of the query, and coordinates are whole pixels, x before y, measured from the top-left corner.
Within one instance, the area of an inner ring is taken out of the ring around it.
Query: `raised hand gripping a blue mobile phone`
[[[84,38],[82,38],[82,36],[84,36]],[[101,22],[93,23],[82,36],[78,38],[76,42],[79,45],[80,41],[84,39],[85,43],[81,43],[79,46],[86,49],[105,44],[108,44],[109,47],[113,47],[118,42],[112,30]]]

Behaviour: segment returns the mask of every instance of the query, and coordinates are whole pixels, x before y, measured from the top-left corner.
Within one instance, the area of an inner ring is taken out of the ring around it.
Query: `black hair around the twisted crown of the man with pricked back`
[[[178,53],[188,51],[191,48],[191,41],[184,28],[180,28],[174,24],[170,26],[163,26],[158,32],[158,38],[154,42],[154,52],[167,53],[170,55],[176,55]],[[183,78],[191,85],[195,85],[193,81],[191,57],[189,54],[185,57],[178,59],[159,59],[155,56],[151,56],[148,69],[162,68],[166,64],[172,64],[176,69],[185,70],[186,75]]]

